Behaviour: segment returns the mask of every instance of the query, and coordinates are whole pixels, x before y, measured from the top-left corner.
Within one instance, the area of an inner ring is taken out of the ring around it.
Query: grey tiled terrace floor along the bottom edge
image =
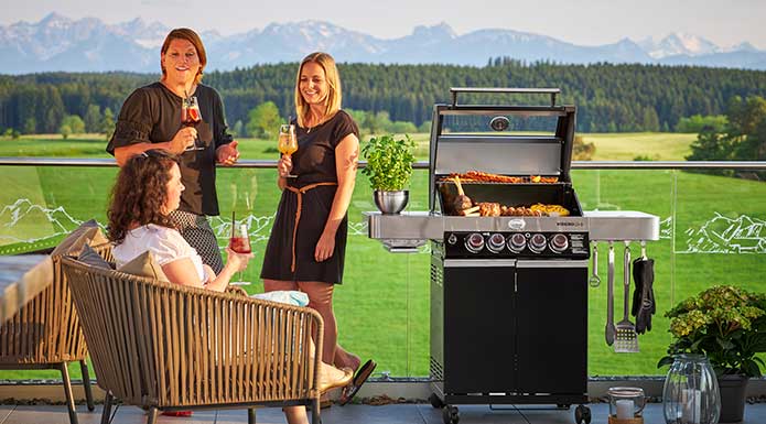
[[[592,404],[592,424],[606,424],[608,404]],[[492,411],[487,405],[458,405],[460,424],[572,424],[573,411],[531,409],[537,406],[520,406],[520,410],[507,409]],[[96,411],[88,412],[85,405],[77,406],[80,424],[100,423],[101,405]],[[644,413],[646,424],[663,423],[662,404],[652,403]],[[143,424],[147,416],[134,406],[122,406],[117,410],[112,424]],[[68,415],[64,405],[0,405],[0,424],[68,424]],[[199,411],[192,417],[160,416],[161,424],[186,423],[247,423],[247,413],[241,410]],[[276,407],[259,409],[259,424],[281,424],[284,416]],[[373,406],[365,404],[334,405],[322,410],[324,424],[442,424],[440,410],[434,410],[427,403],[406,403]],[[766,403],[747,404],[744,424],[766,423]]]

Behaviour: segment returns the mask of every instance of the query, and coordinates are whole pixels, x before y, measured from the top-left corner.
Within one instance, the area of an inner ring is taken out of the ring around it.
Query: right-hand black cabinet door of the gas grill
[[[580,261],[518,263],[520,392],[587,392],[587,265],[575,263]]]

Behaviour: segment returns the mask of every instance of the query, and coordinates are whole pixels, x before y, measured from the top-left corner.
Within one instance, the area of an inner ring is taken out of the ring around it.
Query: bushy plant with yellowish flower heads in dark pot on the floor
[[[722,423],[742,421],[745,389],[760,377],[766,352],[766,295],[732,285],[710,287],[668,311],[673,340],[657,367],[673,356],[702,354],[710,360],[721,390]]]

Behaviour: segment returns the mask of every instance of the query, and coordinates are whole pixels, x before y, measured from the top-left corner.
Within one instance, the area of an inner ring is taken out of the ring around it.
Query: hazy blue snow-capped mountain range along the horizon
[[[170,31],[138,18],[107,24],[97,18],[72,20],[50,13],[35,23],[0,25],[0,74],[39,72],[157,73],[159,46]],[[203,32],[208,69],[228,70],[256,64],[296,62],[326,51],[338,62],[486,65],[490,57],[555,63],[644,63],[766,69],[766,51],[749,43],[721,47],[691,34],[661,40],[623,39],[584,46],[546,35],[501,29],[456,34],[446,23],[417,26],[398,39],[373,35],[323,21],[271,23],[262,30],[224,36]]]

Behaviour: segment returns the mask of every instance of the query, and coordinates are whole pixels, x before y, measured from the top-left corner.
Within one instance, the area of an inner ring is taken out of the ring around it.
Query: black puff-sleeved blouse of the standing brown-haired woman
[[[215,150],[230,143],[233,138],[226,131],[224,105],[218,93],[201,84],[192,95],[197,97],[202,115],[202,121],[195,126],[199,138],[197,143],[206,149],[179,155],[181,180],[186,186],[179,209],[196,215],[218,215]],[[181,106],[182,98],[161,83],[137,89],[122,104],[107,152],[114,155],[116,148],[171,141],[183,127]]]

